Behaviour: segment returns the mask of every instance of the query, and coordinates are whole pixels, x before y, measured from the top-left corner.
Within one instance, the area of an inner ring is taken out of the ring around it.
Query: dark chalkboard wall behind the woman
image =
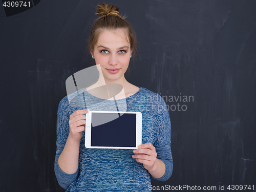
[[[64,191],[54,174],[57,107],[66,79],[92,65],[85,41],[98,3],[41,0],[8,17],[0,8],[0,191]],[[127,80],[165,100],[193,96],[166,101],[174,170],[152,185],[255,191],[256,1],[105,3],[137,32]]]

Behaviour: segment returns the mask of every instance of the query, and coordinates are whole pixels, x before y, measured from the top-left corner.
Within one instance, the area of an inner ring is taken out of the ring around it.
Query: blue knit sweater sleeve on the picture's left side
[[[55,156],[55,162],[54,162],[54,171],[57,178],[57,181],[59,185],[62,188],[67,189],[69,185],[74,182],[79,174],[78,169],[74,174],[67,174],[61,170],[58,164],[58,159],[63,151],[63,148],[65,147],[66,141],[68,139],[69,135],[69,102],[67,101],[67,98],[63,98],[59,105],[58,105],[58,113],[57,113],[57,149],[56,149],[56,156]]]

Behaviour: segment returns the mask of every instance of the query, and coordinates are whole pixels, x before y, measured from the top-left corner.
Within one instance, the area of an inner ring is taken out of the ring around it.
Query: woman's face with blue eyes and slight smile
[[[120,83],[124,80],[132,54],[126,29],[101,30],[91,54],[95,63],[100,64],[106,82]]]

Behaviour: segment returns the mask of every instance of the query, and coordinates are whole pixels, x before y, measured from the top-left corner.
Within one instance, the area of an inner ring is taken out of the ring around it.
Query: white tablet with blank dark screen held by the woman
[[[87,148],[135,149],[142,141],[140,112],[90,111],[86,114]]]

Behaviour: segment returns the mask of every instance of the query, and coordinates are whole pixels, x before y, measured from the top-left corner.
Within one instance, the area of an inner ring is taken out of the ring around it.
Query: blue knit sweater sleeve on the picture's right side
[[[158,120],[156,122],[159,126],[159,131],[154,146],[156,147],[157,158],[165,164],[165,173],[161,178],[153,177],[153,179],[166,181],[173,173],[173,157],[170,150],[170,117],[162,97],[158,106]]]

